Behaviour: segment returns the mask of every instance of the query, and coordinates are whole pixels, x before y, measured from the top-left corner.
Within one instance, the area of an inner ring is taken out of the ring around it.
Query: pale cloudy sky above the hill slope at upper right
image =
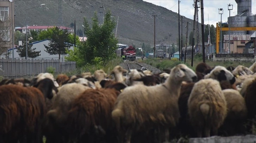
[[[173,12],[178,13],[178,0],[143,0],[150,2],[154,5],[165,7]],[[180,0],[179,3],[179,14],[189,19],[194,19],[194,0]],[[223,8],[222,21],[227,22],[229,16],[228,4],[233,5],[233,10],[230,10],[230,16],[237,15],[237,3],[235,0],[204,0],[203,11],[204,11],[204,24],[214,25],[220,21],[219,8]],[[252,0],[252,13],[256,14],[256,0]],[[201,23],[201,8],[199,8],[199,22]],[[209,22],[208,22],[209,15]]]

